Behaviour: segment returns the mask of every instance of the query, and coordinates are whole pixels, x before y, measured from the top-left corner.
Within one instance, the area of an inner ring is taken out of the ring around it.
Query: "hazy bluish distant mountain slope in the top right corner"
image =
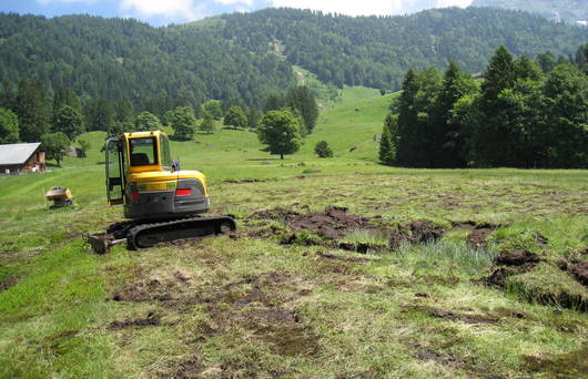
[[[586,0],[474,0],[472,7],[519,9],[570,22],[588,20]]]

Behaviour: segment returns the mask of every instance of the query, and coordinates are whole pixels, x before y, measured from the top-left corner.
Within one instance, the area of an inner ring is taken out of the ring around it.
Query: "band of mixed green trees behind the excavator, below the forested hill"
[[[48,99],[42,83],[21,80],[17,89],[4,85],[0,91],[0,144],[41,141],[48,157],[59,164],[74,140],[84,154],[90,145],[79,135],[87,131],[99,130],[115,136],[123,132],[159,130],[165,125],[173,129],[175,137],[190,140],[197,131],[212,133],[215,121],[222,120],[226,127],[241,129],[256,127],[260,119],[262,126],[266,126],[265,121],[270,120],[265,115],[262,117],[262,111],[254,107],[226,107],[226,102],[210,100],[195,109],[176,106],[158,117],[149,111],[135,114],[124,102],[98,101],[82,106],[78,95],[68,88],[55,90],[53,98]],[[264,111],[276,112],[274,116],[286,114],[293,139],[311,133],[318,117],[316,100],[305,85],[293,85],[285,94],[271,94],[265,100]],[[260,127],[262,134],[265,135],[264,127]],[[272,153],[290,154],[300,147],[284,148],[291,142],[283,142],[283,137],[262,140],[271,146]],[[275,147],[275,141],[282,141],[282,145]]]

